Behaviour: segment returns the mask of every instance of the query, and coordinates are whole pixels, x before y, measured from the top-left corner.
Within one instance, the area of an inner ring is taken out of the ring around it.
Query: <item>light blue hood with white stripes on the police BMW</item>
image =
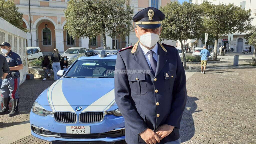
[[[115,105],[114,78],[61,78],[39,96],[52,111],[106,111]]]

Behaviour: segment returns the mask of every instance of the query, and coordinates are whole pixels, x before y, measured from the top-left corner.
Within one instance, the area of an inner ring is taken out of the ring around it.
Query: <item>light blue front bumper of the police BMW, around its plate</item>
[[[92,124],[59,123],[54,120],[52,115],[46,117],[39,116],[30,112],[31,134],[39,139],[46,141],[105,141],[114,142],[125,139],[124,118],[106,115],[103,121]],[[90,126],[90,134],[67,134],[66,126]],[[37,128],[35,130],[34,128]],[[39,129],[39,131],[38,131]]]

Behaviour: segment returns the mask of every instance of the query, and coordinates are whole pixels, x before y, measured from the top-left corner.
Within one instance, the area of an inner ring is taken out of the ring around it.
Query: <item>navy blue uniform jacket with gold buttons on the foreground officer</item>
[[[158,43],[155,76],[138,43],[117,54],[115,101],[125,120],[128,144],[145,144],[139,134],[163,124],[175,128],[160,143],[177,140],[186,97],[186,75],[175,47]]]

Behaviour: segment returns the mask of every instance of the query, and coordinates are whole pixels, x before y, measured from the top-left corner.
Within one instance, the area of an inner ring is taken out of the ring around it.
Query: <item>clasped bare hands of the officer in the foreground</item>
[[[140,136],[147,144],[155,144],[156,142],[160,142],[160,140],[172,133],[173,129],[174,126],[164,124],[159,126],[156,132],[147,128],[140,133]]]

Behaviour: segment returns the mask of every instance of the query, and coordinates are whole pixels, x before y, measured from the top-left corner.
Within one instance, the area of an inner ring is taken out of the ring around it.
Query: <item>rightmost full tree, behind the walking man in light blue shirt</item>
[[[251,25],[251,10],[245,10],[234,4],[213,5],[207,1],[200,7],[204,11],[204,29],[215,37],[214,60],[216,60],[219,36],[246,32]]]

